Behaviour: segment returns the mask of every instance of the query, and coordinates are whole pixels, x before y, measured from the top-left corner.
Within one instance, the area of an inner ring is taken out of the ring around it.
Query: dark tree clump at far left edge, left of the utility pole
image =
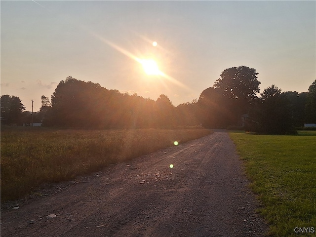
[[[1,118],[4,124],[20,124],[22,113],[25,107],[19,97],[2,95],[1,96]]]

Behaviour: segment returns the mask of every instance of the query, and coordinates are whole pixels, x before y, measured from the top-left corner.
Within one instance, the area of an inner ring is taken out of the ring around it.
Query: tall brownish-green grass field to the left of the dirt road
[[[207,129],[66,130],[1,127],[1,200],[42,183],[73,179],[108,164],[210,134]]]

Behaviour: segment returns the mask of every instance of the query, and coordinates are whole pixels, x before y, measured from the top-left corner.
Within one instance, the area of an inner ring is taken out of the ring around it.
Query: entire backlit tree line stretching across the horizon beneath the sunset
[[[316,123],[316,80],[308,92],[282,92],[271,85],[260,93],[255,69],[225,69],[198,100],[173,106],[166,95],[157,100],[109,90],[71,76],[57,85],[51,101],[42,96],[40,112],[25,111],[15,96],[1,96],[1,123],[80,128],[207,128],[240,126],[269,134],[288,134],[304,123]],[[33,118],[32,118],[33,116]]]

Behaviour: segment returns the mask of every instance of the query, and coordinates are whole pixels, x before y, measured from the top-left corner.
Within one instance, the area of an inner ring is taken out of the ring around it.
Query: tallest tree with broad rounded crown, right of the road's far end
[[[214,83],[214,88],[228,98],[226,109],[235,115],[235,123],[242,114],[248,113],[251,103],[260,92],[260,81],[255,69],[246,66],[225,69],[221,78]]]

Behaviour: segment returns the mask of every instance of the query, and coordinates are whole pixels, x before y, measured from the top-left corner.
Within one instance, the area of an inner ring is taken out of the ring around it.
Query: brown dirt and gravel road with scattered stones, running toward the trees
[[[2,211],[1,236],[257,237],[267,231],[224,131],[76,181]]]

